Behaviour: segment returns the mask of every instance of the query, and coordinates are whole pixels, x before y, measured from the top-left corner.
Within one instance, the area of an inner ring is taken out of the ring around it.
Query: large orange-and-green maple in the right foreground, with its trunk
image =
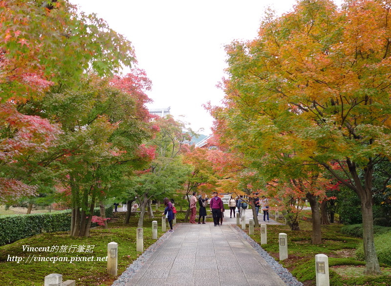
[[[281,17],[268,14],[257,39],[227,46],[227,136],[260,165],[323,168],[354,190],[366,274],[380,273],[373,174],[391,154],[389,10],[379,0],[347,0],[341,9],[301,0]]]

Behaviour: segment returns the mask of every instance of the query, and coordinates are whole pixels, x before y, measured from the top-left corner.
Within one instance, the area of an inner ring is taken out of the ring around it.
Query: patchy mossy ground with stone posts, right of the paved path
[[[310,211],[304,211],[300,221],[300,231],[291,231],[286,225],[267,226],[267,244],[262,244],[276,261],[279,261],[279,233],[288,238],[288,259],[280,263],[305,286],[315,286],[315,255],[328,256],[330,285],[332,286],[391,286],[391,265],[382,265],[382,275],[365,276],[365,262],[358,261],[356,248],[362,239],[344,235],[340,232],[342,224],[322,225],[322,244],[311,244],[312,223],[308,220]],[[248,230],[246,230],[248,233]],[[261,243],[260,228],[250,236]],[[355,269],[353,271],[352,269]],[[360,275],[358,273],[361,272]]]

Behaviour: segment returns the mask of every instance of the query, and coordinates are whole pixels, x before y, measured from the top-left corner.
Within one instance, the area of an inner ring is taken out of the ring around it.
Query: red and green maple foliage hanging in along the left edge
[[[128,40],[66,0],[0,1],[0,199],[33,195],[59,127],[19,105],[50,88],[79,88],[87,70],[105,76],[135,61]],[[36,164],[36,165],[34,165]],[[17,172],[16,172],[17,171]]]

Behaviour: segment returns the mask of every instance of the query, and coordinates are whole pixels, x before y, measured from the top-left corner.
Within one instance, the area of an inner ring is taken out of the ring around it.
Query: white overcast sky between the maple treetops
[[[152,80],[148,108],[171,107],[175,119],[211,133],[213,118],[202,105],[219,105],[224,45],[257,36],[267,6],[278,14],[296,0],[70,0],[96,13],[135,48],[138,67]],[[184,115],[184,117],[180,117]]]

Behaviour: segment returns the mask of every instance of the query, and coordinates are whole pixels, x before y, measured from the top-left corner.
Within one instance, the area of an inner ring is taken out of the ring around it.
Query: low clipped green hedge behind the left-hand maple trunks
[[[111,218],[112,207],[105,209],[106,218]],[[100,216],[100,209],[94,209],[94,216]],[[16,242],[43,232],[69,231],[71,211],[32,215],[9,215],[0,217],[0,245]],[[97,226],[92,223],[91,226]]]

